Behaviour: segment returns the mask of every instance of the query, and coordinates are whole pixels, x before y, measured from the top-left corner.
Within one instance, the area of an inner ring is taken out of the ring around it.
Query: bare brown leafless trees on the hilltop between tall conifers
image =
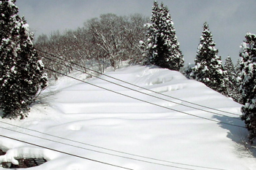
[[[108,66],[117,69],[121,61],[140,62],[142,52],[139,42],[145,39],[146,28],[143,25],[147,22],[148,18],[140,14],[100,15],[99,18],[86,21],[83,28],[75,31],[65,31],[64,34],[54,31],[50,36],[42,34],[37,38],[35,47],[71,63],[97,66],[98,71],[104,72]],[[50,69],[65,74],[72,71],[72,66],[59,64],[63,63],[61,60],[56,63],[56,58],[51,55],[41,52],[39,55],[42,56],[45,66]],[[57,79],[56,73],[48,70],[46,72],[48,77]]]

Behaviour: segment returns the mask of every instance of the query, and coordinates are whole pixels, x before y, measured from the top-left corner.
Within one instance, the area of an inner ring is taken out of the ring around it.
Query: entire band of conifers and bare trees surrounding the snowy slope
[[[117,69],[122,61],[176,71],[184,66],[169,10],[164,4],[159,6],[157,1],[154,1],[150,20],[138,14],[128,17],[101,15],[75,31],[41,35],[34,45],[26,20],[18,16],[18,7],[14,3],[15,0],[0,3],[0,19],[3,21],[0,22],[0,110],[4,112],[3,117],[26,117],[29,105],[46,87],[40,58],[48,77],[56,79],[56,73],[67,74],[78,65],[83,66],[80,69],[96,66],[94,69],[100,72],[108,66]],[[187,77],[244,105],[241,119],[249,130],[249,142],[253,143],[256,140],[255,34],[246,34],[239,56],[241,61],[236,67],[231,58],[227,58],[222,66],[211,31],[204,23],[195,64],[183,70]]]

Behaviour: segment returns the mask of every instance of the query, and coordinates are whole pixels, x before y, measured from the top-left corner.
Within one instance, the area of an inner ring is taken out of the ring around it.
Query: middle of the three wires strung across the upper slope
[[[67,64],[60,63],[59,61],[54,61],[54,60],[51,59],[51,58],[48,58],[48,57],[44,57],[44,58],[46,58],[46,59],[48,59],[48,60],[50,60],[50,61],[53,61],[53,62],[55,62],[55,63],[59,63],[59,64],[61,64],[62,66],[70,67],[70,66],[68,66]],[[72,68],[72,69],[75,69],[75,68]],[[79,69],[75,69],[75,70],[77,70],[78,72],[83,72],[83,71],[81,71],[81,70],[79,70]],[[127,88],[128,90],[133,90],[133,91],[135,91],[135,92],[142,93],[142,94],[144,94],[144,95],[151,96],[151,97],[154,97],[154,98],[158,98],[158,99],[161,99],[161,100],[163,100],[163,101],[168,101],[168,102],[171,102],[171,103],[174,103],[174,104],[178,104],[178,105],[181,105],[181,106],[184,106],[184,107],[189,107],[189,108],[197,109],[197,110],[200,110],[200,111],[203,111],[203,112],[212,113],[212,114],[214,114],[214,115],[221,115],[221,116],[225,116],[225,117],[230,117],[230,116],[222,115],[222,114],[219,114],[219,113],[216,113],[216,112],[211,112],[211,111],[204,110],[204,109],[199,109],[199,108],[196,108],[196,107],[190,107],[190,106],[187,106],[186,104],[179,104],[179,103],[177,103],[177,102],[175,102],[175,101],[170,101],[170,100],[167,100],[167,99],[165,99],[165,98],[160,98],[160,97],[157,97],[157,96],[148,94],[148,93],[144,93],[144,92],[142,92],[142,91],[140,91],[140,90],[135,90],[135,89],[132,89],[132,88],[128,88],[127,86],[120,85],[120,84],[118,84],[118,83],[116,83],[116,82],[111,82],[111,81],[105,80],[105,79],[103,79],[103,78],[101,78],[101,77],[97,77],[97,76],[95,76],[94,74],[89,74],[88,72],[83,72],[83,73],[84,73],[84,74],[88,74],[88,75],[90,75],[91,77],[96,77],[96,78],[98,78],[99,80],[104,80],[105,82],[110,82],[110,83],[112,83],[112,84],[114,84],[114,85],[118,85],[118,86],[120,86],[120,87],[122,87],[122,88]],[[230,118],[237,119],[237,120],[241,120],[239,117],[230,117]]]

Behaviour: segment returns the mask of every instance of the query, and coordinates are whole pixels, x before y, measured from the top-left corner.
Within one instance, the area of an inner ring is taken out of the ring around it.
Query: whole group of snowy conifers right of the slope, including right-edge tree
[[[243,104],[241,120],[244,120],[249,131],[248,141],[244,142],[244,146],[249,150],[252,147],[247,144],[256,141],[256,34],[246,33],[240,46],[241,60],[236,66],[231,58],[227,57],[223,67],[221,57],[217,53],[211,31],[205,23],[195,65],[187,66],[184,74]]]

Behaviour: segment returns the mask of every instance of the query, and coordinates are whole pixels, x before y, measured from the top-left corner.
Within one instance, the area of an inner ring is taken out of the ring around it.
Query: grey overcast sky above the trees
[[[236,63],[246,32],[256,34],[256,0],[162,0],[173,19],[185,63],[194,63],[197,46],[207,22],[222,60]],[[35,35],[76,29],[101,14],[151,16],[153,0],[17,0]]]

